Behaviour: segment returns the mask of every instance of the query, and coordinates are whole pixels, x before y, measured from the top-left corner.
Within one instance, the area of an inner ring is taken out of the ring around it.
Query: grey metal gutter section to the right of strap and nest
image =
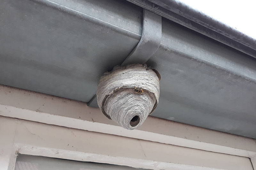
[[[148,65],[161,73],[156,117],[256,138],[256,59],[167,19]]]

